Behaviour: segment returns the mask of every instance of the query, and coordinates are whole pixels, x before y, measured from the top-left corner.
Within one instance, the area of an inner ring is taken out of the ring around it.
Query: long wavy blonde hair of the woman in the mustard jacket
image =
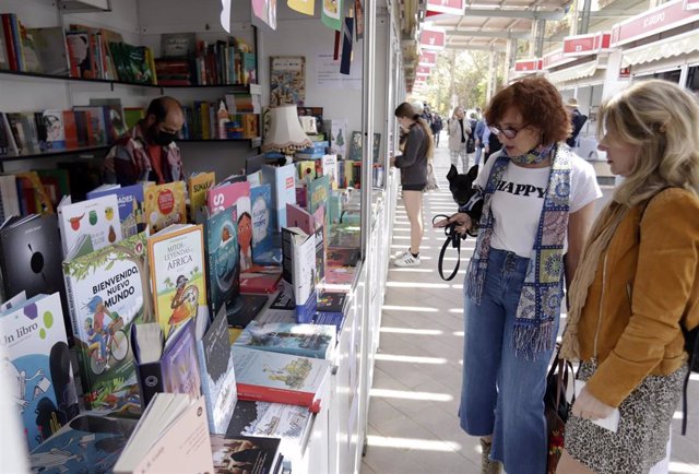
[[[614,200],[626,206],[647,201],[663,188],[699,194],[699,100],[662,80],[632,84],[600,108],[597,137],[638,146],[629,176]]]

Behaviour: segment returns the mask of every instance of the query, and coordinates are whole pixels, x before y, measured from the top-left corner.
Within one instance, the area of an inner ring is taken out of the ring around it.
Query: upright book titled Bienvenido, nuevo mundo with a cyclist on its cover
[[[63,263],[87,408],[140,411],[128,334],[153,318],[146,249],[142,233]]]

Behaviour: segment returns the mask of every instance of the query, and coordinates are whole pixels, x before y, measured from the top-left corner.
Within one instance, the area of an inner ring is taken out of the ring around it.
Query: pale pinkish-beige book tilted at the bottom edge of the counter
[[[116,474],[213,473],[204,400],[156,393],[119,460]]]

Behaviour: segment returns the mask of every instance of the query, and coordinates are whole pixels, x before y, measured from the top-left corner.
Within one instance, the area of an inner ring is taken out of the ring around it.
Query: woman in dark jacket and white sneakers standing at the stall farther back
[[[401,156],[392,159],[401,169],[403,205],[411,223],[411,247],[393,260],[396,266],[419,265],[419,246],[423,241],[423,192],[427,186],[427,162],[434,152],[431,131],[415,108],[404,102],[395,109],[401,129],[407,132]]]

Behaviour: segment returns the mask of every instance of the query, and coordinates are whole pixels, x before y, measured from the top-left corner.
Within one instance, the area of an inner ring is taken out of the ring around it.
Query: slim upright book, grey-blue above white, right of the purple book
[[[224,434],[238,400],[225,306],[203,335],[197,335],[201,389],[206,401],[209,431]]]

